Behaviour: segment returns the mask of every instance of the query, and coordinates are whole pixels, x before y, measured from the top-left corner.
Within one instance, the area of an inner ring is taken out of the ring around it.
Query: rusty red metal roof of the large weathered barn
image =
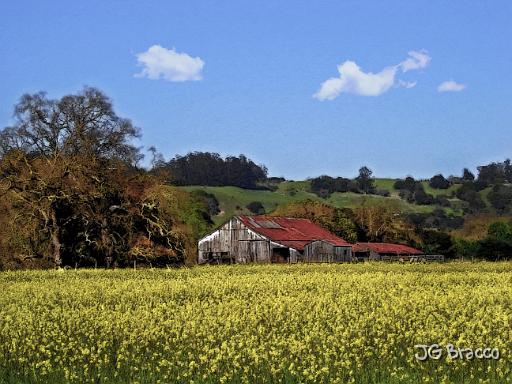
[[[350,247],[341,237],[333,235],[308,219],[275,216],[238,216],[244,225],[276,243],[303,250],[307,243],[324,240],[335,246]]]

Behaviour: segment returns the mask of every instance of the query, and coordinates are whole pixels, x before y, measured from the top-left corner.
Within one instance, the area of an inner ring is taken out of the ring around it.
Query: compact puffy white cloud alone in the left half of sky
[[[142,72],[136,77],[167,81],[201,80],[204,61],[199,57],[192,57],[186,53],[178,53],[160,45],[149,47],[146,52],[138,53],[138,65]]]

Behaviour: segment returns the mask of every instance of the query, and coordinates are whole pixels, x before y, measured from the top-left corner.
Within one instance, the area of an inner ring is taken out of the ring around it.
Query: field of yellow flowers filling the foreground
[[[511,348],[512,263],[0,273],[1,383],[500,383]]]

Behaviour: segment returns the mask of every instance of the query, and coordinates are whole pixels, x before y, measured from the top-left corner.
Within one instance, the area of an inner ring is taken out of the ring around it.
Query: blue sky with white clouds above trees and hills
[[[510,20],[510,1],[2,2],[0,126],[23,93],[90,85],[166,158],[460,174],[512,156]]]

